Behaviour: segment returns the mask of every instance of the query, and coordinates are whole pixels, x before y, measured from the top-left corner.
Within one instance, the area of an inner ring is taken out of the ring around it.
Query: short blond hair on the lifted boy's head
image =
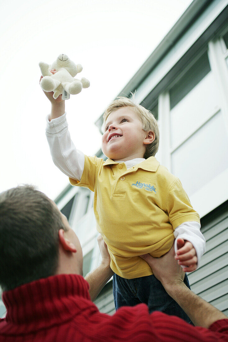
[[[142,123],[142,129],[145,132],[152,131],[155,134],[154,141],[146,145],[146,151],[144,154],[144,158],[147,159],[149,157],[155,156],[157,150],[159,148],[159,128],[157,125],[157,121],[150,110],[145,109],[143,106],[135,103],[135,94],[131,93],[132,97],[118,97],[117,100],[113,100],[110,105],[105,109],[103,115],[103,122],[106,122],[107,117],[116,109],[122,107],[130,107],[134,110],[134,112],[138,115],[139,120]]]

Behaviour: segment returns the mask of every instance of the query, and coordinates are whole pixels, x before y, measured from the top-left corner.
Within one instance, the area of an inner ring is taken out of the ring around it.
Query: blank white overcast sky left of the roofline
[[[54,199],[68,178],[53,164],[45,136],[50,104],[40,61],[65,53],[83,65],[90,88],[66,101],[78,149],[94,155],[94,122],[153,52],[192,0],[0,1],[0,192],[36,185]]]

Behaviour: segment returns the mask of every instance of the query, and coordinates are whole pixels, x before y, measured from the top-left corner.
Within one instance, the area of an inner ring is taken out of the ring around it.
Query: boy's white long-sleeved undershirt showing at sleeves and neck
[[[46,118],[46,136],[54,164],[68,177],[81,180],[84,170],[85,155],[77,150],[71,140],[66,121],[66,113],[56,119],[49,121]],[[145,160],[136,158],[125,162],[127,169]],[[175,238],[182,238],[192,243],[198,258],[198,267],[203,253],[205,252],[205,239],[200,231],[199,222],[184,222],[174,230]],[[177,251],[177,240],[175,240],[175,252]]]

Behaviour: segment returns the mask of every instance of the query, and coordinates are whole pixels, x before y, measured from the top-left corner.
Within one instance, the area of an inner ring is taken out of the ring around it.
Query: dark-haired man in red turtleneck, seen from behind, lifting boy
[[[202,327],[161,312],[150,315],[145,304],[122,307],[113,316],[100,313],[91,300],[112,271],[99,243],[102,263],[84,279],[80,243],[55,203],[30,186],[0,194],[0,286],[7,307],[0,341],[228,341],[227,317],[185,286],[168,254],[143,258]]]

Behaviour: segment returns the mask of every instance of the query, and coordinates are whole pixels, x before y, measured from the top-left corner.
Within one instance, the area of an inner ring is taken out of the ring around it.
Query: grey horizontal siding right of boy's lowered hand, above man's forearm
[[[228,203],[201,221],[206,253],[200,267],[188,275],[191,289],[228,314]]]

